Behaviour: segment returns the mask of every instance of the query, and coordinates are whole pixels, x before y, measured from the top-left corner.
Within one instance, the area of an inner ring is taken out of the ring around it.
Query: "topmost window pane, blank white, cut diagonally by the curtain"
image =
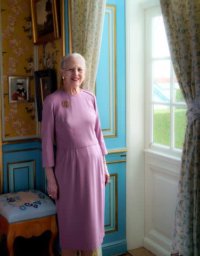
[[[153,18],[153,57],[170,56],[162,15]]]

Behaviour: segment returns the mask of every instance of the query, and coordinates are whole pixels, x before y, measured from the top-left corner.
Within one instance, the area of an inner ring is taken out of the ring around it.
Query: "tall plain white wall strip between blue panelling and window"
[[[145,133],[145,11],[126,0],[127,243],[143,246]]]

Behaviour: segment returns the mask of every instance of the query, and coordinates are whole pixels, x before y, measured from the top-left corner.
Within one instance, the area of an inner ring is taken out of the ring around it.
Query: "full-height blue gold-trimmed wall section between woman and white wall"
[[[95,93],[111,175],[105,188],[103,256],[127,251],[126,85],[124,1],[107,0]],[[123,152],[118,152],[123,151]]]

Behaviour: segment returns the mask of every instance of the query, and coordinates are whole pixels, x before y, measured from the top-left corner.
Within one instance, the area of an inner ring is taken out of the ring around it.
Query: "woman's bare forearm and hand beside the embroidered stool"
[[[57,180],[53,171],[53,167],[47,167],[46,177],[47,177],[47,192],[54,200],[59,198],[59,186],[57,185]]]

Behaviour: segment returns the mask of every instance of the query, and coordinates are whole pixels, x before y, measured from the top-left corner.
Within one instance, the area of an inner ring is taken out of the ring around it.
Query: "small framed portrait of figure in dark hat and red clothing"
[[[9,76],[9,103],[30,101],[29,76]]]

